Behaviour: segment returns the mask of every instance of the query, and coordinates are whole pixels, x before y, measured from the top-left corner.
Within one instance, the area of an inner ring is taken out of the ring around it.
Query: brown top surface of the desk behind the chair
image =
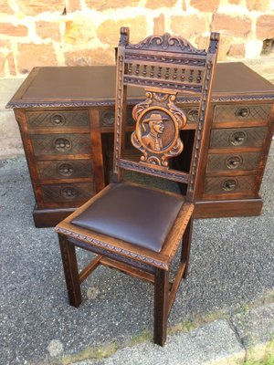
[[[115,66],[33,68],[6,108],[114,105]],[[129,97],[143,99],[142,88],[129,87]],[[213,101],[273,100],[274,85],[240,62],[218,63]],[[179,93],[179,102],[197,97]]]

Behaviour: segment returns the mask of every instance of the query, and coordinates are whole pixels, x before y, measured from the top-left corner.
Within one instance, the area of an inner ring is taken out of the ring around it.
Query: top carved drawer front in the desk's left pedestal
[[[28,111],[26,112],[29,129],[39,128],[84,128],[90,129],[88,110],[71,111]]]

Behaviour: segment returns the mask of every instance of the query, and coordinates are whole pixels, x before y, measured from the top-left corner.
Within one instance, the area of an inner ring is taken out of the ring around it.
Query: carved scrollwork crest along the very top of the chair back
[[[197,49],[192,46],[186,39],[180,36],[171,36],[164,33],[163,36],[148,36],[142,42],[136,45],[128,45],[129,49],[150,49],[150,50],[168,50],[170,52],[189,52],[198,55],[205,55],[205,49]]]

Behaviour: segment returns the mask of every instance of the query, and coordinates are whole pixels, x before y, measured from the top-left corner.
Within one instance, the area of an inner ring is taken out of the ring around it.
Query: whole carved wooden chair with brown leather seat
[[[99,265],[116,268],[154,285],[153,340],[163,346],[167,318],[189,260],[195,180],[206,133],[211,86],[216,65],[218,34],[211,33],[207,49],[184,38],[149,36],[129,43],[129,29],[121,28],[117,53],[113,182],[57,225],[56,232],[68,287],[69,303],[81,302],[80,284]],[[144,88],[146,99],[132,111],[136,121],[132,145],[140,161],[124,156],[127,86]],[[176,107],[178,92],[200,96],[190,172],[174,170],[170,159],[183,151],[180,131],[186,117]],[[124,181],[124,170],[186,183],[187,193],[166,192]],[[169,274],[182,242],[174,282]],[[80,273],[75,246],[98,254]]]

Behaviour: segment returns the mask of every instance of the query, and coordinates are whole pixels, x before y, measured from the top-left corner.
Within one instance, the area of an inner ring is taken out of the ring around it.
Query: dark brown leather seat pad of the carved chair
[[[119,183],[71,223],[160,252],[183,203],[183,196]]]

